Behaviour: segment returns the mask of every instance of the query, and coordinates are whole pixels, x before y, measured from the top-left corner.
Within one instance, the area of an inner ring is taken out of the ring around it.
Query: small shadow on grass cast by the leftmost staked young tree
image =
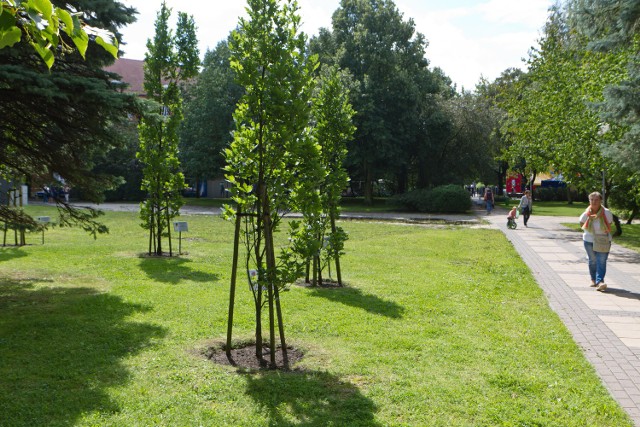
[[[142,258],[140,268],[150,278],[163,283],[178,284],[183,280],[195,282],[217,282],[217,274],[193,270],[189,263],[193,261],[178,257]]]

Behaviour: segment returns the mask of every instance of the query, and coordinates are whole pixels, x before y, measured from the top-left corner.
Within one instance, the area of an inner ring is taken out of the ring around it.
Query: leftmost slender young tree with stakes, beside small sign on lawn
[[[176,35],[169,29],[171,9],[166,3],[158,12],[156,34],[147,41],[144,63],[144,88],[150,100],[139,125],[143,164],[142,190],[147,199],[140,207],[141,226],[149,230],[149,255],[162,255],[162,237],[171,247],[171,220],[182,206],[184,175],[178,160],[178,129],[182,121],[182,96],[179,83],[198,72],[198,48],[193,17],[178,14]]]

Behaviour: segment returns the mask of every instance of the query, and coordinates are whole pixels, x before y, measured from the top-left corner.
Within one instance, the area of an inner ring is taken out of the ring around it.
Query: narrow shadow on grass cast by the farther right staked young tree
[[[393,301],[385,301],[375,295],[367,295],[357,288],[312,288],[311,291],[311,296],[326,298],[394,319],[401,318],[404,313],[401,305]]]

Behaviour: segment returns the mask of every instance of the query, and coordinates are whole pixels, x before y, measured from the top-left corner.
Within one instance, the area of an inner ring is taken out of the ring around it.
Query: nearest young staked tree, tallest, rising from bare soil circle
[[[303,264],[290,248],[276,254],[274,234],[282,215],[292,209],[318,209],[318,148],[309,131],[312,73],[316,57],[306,54],[295,0],[248,0],[232,36],[231,66],[245,94],[234,114],[236,130],[225,150],[226,178],[237,209],[236,250],[232,273],[227,355],[230,355],[239,232],[246,248],[246,270],[256,311],[256,357],[262,362],[262,310],[268,308],[270,361],[276,365],[277,313],[284,367],[288,367],[279,294],[301,276]],[[241,223],[244,227],[241,227]],[[266,294],[266,295],[265,295]]]

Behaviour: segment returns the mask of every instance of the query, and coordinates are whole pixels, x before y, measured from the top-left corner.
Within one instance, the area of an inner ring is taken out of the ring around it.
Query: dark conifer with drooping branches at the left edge
[[[117,29],[135,19],[134,9],[114,1],[78,1],[75,5],[86,12],[89,25],[109,30],[118,38]],[[102,71],[112,61],[113,56],[92,38],[85,59],[77,51],[61,52],[51,70],[26,37],[0,49],[3,177],[20,177],[40,187],[55,183],[54,175],[61,176],[83,199],[96,202],[119,182],[113,174],[93,170],[98,159],[121,145],[115,127],[128,121],[128,112],[138,110],[136,98],[120,93],[111,83],[115,76]],[[96,211],[56,202],[60,224],[79,225],[94,235],[106,231]],[[6,206],[0,209],[2,218],[16,221],[16,215]],[[18,217],[34,224],[23,213]]]

